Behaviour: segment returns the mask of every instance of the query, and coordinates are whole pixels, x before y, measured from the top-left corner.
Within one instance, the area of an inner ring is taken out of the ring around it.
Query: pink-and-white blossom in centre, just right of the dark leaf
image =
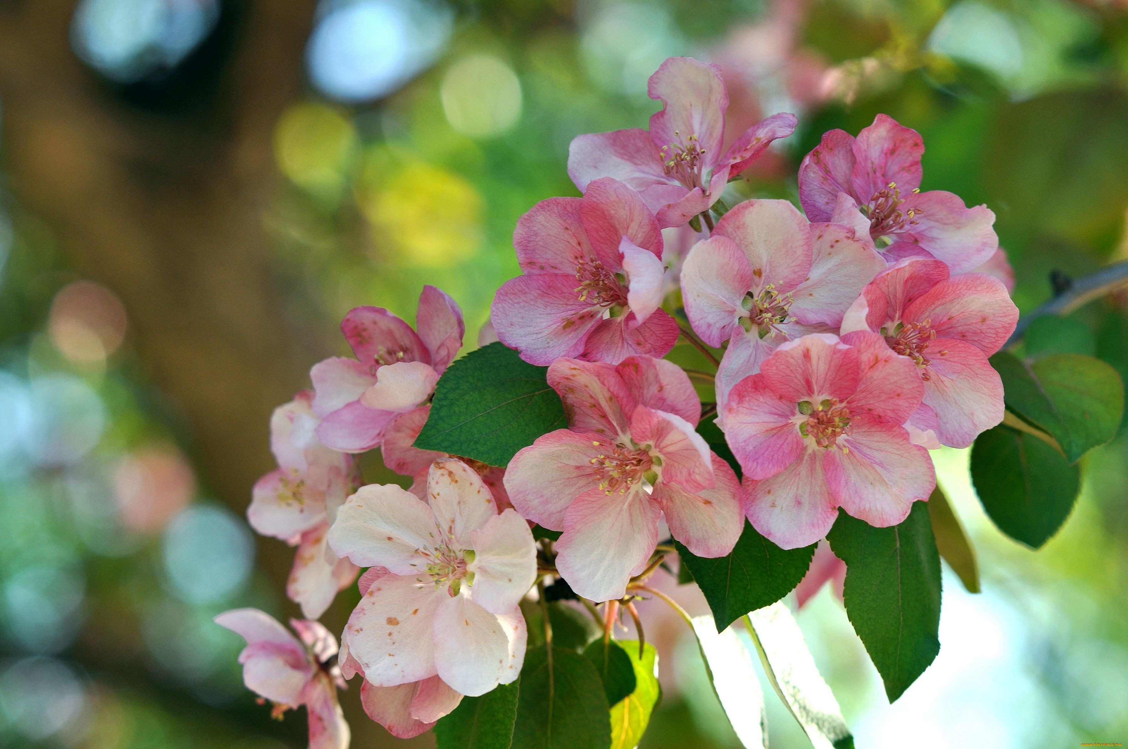
[[[556,569],[597,601],[622,598],[658,545],[664,518],[699,556],[732,550],[742,522],[735,474],[694,431],[700,403],[676,364],[561,359],[548,368],[570,429],[538,438],[505,472],[513,506],[564,531]]]

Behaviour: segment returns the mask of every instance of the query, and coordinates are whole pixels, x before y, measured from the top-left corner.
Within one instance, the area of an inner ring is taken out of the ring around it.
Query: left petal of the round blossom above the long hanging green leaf
[[[746,377],[729,391],[724,432],[746,476],[768,478],[799,459],[804,448],[797,403],[768,387],[763,372]]]

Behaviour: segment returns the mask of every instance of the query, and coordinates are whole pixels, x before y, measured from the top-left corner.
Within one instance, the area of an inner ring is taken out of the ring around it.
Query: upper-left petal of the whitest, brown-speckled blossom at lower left
[[[361,486],[329,529],[329,546],[362,567],[388,567],[396,574],[422,572],[417,549],[433,548],[435,517],[425,502],[395,484]]]

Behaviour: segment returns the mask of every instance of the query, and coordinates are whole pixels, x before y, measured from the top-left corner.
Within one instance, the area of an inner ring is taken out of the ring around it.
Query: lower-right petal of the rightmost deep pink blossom
[[[925,354],[929,363],[924,403],[936,413],[941,443],[966,448],[1003,422],[1003,380],[987,354],[950,338],[937,338]]]

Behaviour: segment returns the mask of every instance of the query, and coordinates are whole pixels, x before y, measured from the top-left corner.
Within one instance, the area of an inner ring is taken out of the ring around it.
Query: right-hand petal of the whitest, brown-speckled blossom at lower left
[[[529,523],[505,510],[470,534],[475,557],[470,597],[487,611],[512,611],[537,580],[537,547]]]

